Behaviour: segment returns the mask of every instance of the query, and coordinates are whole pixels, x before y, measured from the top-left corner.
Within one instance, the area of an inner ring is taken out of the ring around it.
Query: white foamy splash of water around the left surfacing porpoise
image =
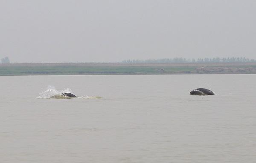
[[[64,88],[64,90],[58,91],[57,89],[55,89],[54,86],[48,86],[47,89],[44,92],[40,93],[37,98],[50,98],[52,96],[57,95],[55,97],[58,99],[67,99],[67,98],[63,98],[61,93],[73,94],[70,88]],[[102,97],[81,96],[81,97],[72,97],[72,98],[88,99],[88,98],[102,98]]]

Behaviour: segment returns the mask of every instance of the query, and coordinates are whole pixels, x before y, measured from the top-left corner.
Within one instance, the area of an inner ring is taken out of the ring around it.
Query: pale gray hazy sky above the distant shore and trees
[[[256,0],[0,0],[0,58],[256,59]]]

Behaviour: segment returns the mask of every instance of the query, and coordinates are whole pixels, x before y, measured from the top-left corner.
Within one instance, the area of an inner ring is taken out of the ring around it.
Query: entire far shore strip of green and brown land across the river
[[[0,76],[15,75],[256,74],[250,63],[2,63]]]

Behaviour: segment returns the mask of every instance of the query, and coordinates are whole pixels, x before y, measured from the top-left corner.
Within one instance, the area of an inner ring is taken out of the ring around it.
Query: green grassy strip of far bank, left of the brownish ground
[[[90,75],[90,74],[166,74],[188,72],[195,67],[151,66],[5,66],[0,75]]]

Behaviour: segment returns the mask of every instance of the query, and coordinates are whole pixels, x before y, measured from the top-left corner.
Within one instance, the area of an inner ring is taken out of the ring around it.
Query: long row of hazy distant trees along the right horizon
[[[148,59],[148,60],[123,60],[121,63],[250,63],[256,62],[255,59],[245,57],[227,57],[227,58],[198,58],[186,59],[182,57]]]

